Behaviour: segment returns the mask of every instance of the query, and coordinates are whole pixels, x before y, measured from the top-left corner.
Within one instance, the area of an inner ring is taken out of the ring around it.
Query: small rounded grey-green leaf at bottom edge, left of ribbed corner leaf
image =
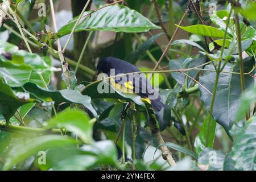
[[[198,158],[199,168],[203,171],[222,171],[225,154],[212,148],[205,148]]]

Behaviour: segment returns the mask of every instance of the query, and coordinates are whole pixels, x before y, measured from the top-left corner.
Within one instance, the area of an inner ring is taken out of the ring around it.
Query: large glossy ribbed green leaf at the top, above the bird
[[[92,14],[92,11],[85,12],[86,16],[81,20],[75,31],[114,31],[114,32],[145,32],[150,29],[159,28],[150,20],[139,14],[137,11],[129,9],[123,5],[113,5],[98,10]],[[67,35],[72,31],[75,26],[74,20],[66,24],[59,30],[60,36]]]

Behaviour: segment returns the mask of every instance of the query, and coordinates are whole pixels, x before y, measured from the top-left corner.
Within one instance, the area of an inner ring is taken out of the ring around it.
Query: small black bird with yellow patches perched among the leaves
[[[113,77],[118,74],[139,72],[139,69],[124,60],[115,57],[105,57],[98,63],[97,71],[98,73],[102,72],[109,77]],[[156,111],[160,111],[163,107],[166,107],[166,105],[160,101],[160,96],[156,93],[154,87],[150,84],[144,74],[127,75],[126,78],[125,82],[122,81],[122,78],[120,77],[115,77],[113,81],[115,84],[119,85],[119,88],[121,89],[124,87],[133,90],[135,94],[141,96],[142,100],[148,102]]]

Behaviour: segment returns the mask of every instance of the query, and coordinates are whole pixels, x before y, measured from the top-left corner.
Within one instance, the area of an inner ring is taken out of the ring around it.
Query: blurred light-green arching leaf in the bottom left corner
[[[8,170],[14,164],[18,164],[39,151],[45,151],[48,148],[60,147],[76,144],[76,140],[59,135],[45,135],[28,139],[26,142],[18,141],[10,148],[6,158],[3,170]]]

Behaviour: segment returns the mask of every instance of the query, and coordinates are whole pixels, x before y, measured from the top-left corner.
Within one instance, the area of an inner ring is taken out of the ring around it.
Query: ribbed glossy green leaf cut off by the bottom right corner
[[[243,171],[256,170],[256,118],[246,122],[240,133],[237,134],[232,151],[234,167]]]

